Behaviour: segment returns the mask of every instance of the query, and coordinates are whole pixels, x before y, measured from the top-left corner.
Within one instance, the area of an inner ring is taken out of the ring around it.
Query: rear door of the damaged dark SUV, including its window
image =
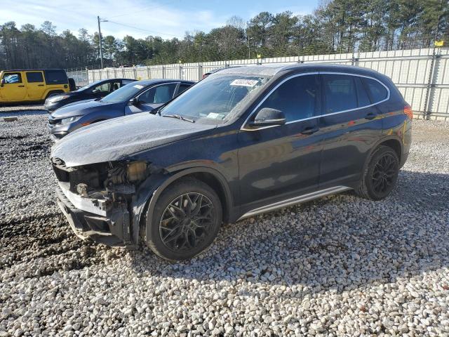
[[[353,74],[321,74],[321,187],[358,180],[368,152],[382,136],[382,113],[370,100],[364,79]]]

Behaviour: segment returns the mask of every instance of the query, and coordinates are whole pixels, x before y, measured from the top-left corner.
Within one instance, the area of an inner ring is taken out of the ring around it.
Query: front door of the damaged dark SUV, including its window
[[[262,104],[281,110],[286,124],[239,131],[242,212],[296,197],[319,184],[321,144],[316,116],[321,112],[315,74],[284,81]]]

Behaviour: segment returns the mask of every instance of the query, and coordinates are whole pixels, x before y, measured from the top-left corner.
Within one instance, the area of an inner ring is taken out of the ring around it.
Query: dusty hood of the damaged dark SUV
[[[69,133],[53,145],[51,157],[62,159],[68,167],[115,161],[215,127],[143,112]]]

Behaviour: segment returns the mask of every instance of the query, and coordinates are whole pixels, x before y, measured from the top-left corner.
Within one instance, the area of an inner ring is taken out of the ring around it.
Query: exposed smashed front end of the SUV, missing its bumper
[[[67,167],[53,158],[58,206],[77,236],[108,246],[136,248],[131,204],[136,186],[151,174],[143,161]]]

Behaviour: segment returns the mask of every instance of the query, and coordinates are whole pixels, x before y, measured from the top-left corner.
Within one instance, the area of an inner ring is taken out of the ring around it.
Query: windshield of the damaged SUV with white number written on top
[[[161,109],[161,115],[177,115],[221,124],[257,94],[269,77],[225,74],[210,76]]]

